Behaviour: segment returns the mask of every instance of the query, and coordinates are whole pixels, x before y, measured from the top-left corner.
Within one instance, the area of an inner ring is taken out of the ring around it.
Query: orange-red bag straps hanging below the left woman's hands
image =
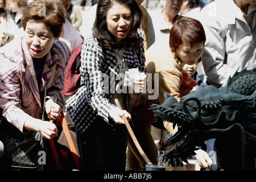
[[[71,134],[69,133],[68,124],[67,124],[67,121],[65,119],[63,111],[61,111],[61,113],[60,113],[60,121],[62,123],[62,127],[63,127],[65,137],[68,141],[69,149],[71,150],[72,155],[73,155],[73,159],[75,160],[76,168],[78,170],[81,170],[80,160],[79,160],[79,157],[77,155],[76,147],[75,147],[75,144],[72,140]],[[50,122],[53,123],[52,120]],[[52,139],[50,140],[50,143],[51,143],[52,154],[53,154],[53,158],[54,158],[55,163],[56,163],[57,170],[61,171],[60,159],[59,159],[59,156],[58,156],[56,148],[55,148],[55,144],[54,144]]]

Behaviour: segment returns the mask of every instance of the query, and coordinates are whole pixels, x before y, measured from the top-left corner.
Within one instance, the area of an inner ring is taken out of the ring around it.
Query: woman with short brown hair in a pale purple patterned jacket
[[[44,16],[38,13],[42,8],[40,3],[46,8]],[[43,117],[55,120],[65,104],[61,90],[70,57],[67,44],[60,38],[65,11],[55,1],[36,0],[25,7],[21,21],[24,36],[19,42],[13,41],[0,48],[1,114],[14,135],[22,135],[24,140],[40,145],[42,143],[35,140],[36,135],[41,134],[46,139],[57,135],[55,124],[43,121]],[[31,151],[36,155],[38,152]],[[0,167],[14,169],[8,162],[0,162]],[[42,168],[43,164],[39,164],[36,169]],[[29,168],[20,166],[18,169]]]

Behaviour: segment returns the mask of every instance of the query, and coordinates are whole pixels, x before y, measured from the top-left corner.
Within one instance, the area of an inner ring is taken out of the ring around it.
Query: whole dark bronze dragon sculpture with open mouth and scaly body
[[[236,72],[225,86],[200,86],[180,103],[164,94],[162,105],[151,105],[156,121],[172,122],[177,133],[162,143],[163,161],[183,166],[196,146],[216,138],[217,165],[224,170],[256,169],[256,68]]]

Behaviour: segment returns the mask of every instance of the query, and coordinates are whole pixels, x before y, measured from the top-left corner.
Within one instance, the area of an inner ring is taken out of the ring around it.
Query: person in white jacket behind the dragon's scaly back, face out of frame
[[[202,63],[208,84],[220,88],[236,71],[256,67],[255,0],[215,0],[200,14],[207,35]]]

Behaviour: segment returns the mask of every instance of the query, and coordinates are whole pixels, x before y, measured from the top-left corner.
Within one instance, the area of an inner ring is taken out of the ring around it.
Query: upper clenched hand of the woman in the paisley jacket
[[[49,99],[46,101],[46,113],[48,118],[51,120],[56,120],[60,115],[60,105],[53,102],[53,100]]]

